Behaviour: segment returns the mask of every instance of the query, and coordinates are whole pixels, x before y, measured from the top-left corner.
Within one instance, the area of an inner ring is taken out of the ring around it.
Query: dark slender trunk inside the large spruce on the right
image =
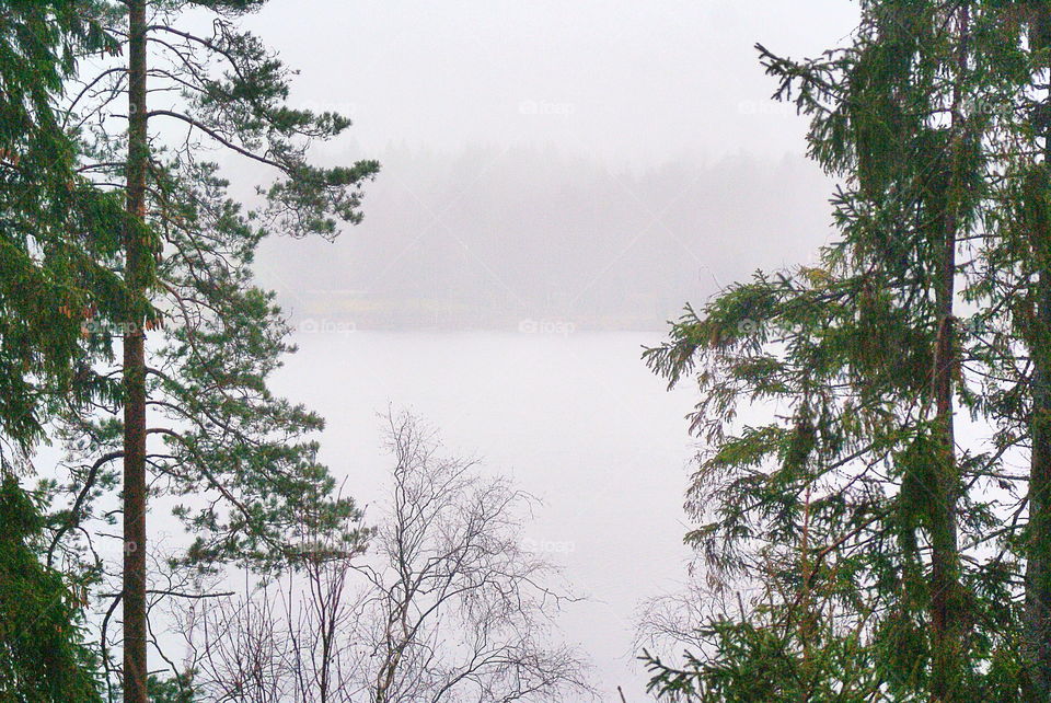
[[[956,344],[956,245],[962,196],[963,116],[962,85],[968,56],[970,10],[965,3],[957,16],[959,59],[952,99],[949,174],[942,214],[942,252],[937,263],[935,296],[938,335],[935,342],[933,391],[936,410],[936,456],[931,486],[931,700],[962,703],[965,625],[960,588],[960,553],[956,512],[959,503],[959,466],[952,422],[954,376],[959,364]]]

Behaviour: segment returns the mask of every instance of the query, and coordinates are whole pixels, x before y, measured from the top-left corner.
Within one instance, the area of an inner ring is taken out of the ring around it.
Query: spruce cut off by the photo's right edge
[[[1000,163],[991,212],[995,239],[982,253],[975,288],[991,311],[975,355],[989,369],[985,395],[1002,451],[1029,453],[1028,485],[1005,526],[1025,563],[1025,695],[1051,698],[1051,4],[996,3],[1010,54],[996,65],[1012,79],[1002,129],[989,145]],[[1028,514],[1028,523],[1019,517]]]

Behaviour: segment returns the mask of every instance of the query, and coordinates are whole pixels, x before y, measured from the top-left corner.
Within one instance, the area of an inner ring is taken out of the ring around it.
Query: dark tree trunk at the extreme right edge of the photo
[[[1030,46],[1049,48],[1051,3],[1038,3],[1032,18]],[[1051,67],[1048,67],[1051,69]],[[1035,113],[1033,126],[1043,137],[1042,170],[1035,188],[1026,197],[1049,198],[1051,186],[1051,90]],[[1043,203],[1027,204],[1042,209]],[[1030,439],[1032,456],[1029,473],[1029,543],[1026,554],[1026,659],[1030,701],[1051,701],[1051,231],[1043,217],[1030,217],[1029,232],[1038,265],[1036,283],[1036,334],[1031,335],[1032,416]]]

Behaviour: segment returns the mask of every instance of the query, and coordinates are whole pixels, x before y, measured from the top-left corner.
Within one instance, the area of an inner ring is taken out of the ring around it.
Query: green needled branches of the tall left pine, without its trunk
[[[355,549],[365,537],[353,527],[354,502],[339,494],[317,460],[322,418],[269,389],[294,349],[275,295],[257,287],[252,265],[266,237],[332,238],[340,224],[360,221],[363,184],[379,166],[367,160],[333,168],[311,163],[312,145],[339,136],[350,122],[288,106],[293,72],[235,23],[262,2],[146,4],[149,143],[108,117],[112,104],[128,99],[126,3],[81,4],[83,16],[120,41],[83,47],[93,51],[96,72],[78,74],[70,91],[76,99],[66,105],[76,127],[70,159],[99,198],[124,203],[126,194],[139,192],[127,166],[134,154],[149,151],[145,216],[112,222],[112,232],[125,234],[111,242],[113,252],[88,252],[122,286],[106,298],[111,308],[100,306],[90,324],[78,321],[85,382],[111,392],[96,393],[90,408],[59,404],[55,435],[66,448],[60,475],[68,480],[53,486],[58,509],[48,557],[114,592],[122,590],[122,565],[101,558],[96,541],[113,532],[120,487],[114,462],[141,418],[127,419],[125,402],[134,393],[126,399],[125,390],[132,384],[119,383],[136,377],[137,364],[125,368],[108,350],[140,332],[148,497],[168,498],[187,531],[164,553],[151,550],[158,569],[185,583],[197,569],[218,571],[231,562],[262,571],[294,567],[304,533],[332,533]],[[201,24],[201,16],[211,21]],[[195,33],[199,27],[206,30]],[[172,131],[164,124],[188,130],[188,137],[165,143],[161,135]],[[275,177],[258,187],[258,207],[231,199],[218,166],[206,158],[216,148]],[[145,256],[127,254],[132,251]],[[108,626],[104,621],[102,643],[113,642]],[[104,644],[106,664],[112,656]],[[113,682],[107,684],[112,694]],[[171,698],[171,685],[154,682],[155,695],[166,690]]]

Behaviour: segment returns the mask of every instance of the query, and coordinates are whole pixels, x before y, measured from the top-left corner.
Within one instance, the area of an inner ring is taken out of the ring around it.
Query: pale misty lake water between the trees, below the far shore
[[[277,390],[327,420],[322,458],[362,506],[382,500],[389,407],[439,428],[447,450],[513,476],[543,505],[524,540],[587,599],[559,621],[594,664],[602,700],[640,696],[639,601],[684,578],[680,508],[693,394],[666,392],[639,360],[648,332],[300,332]],[[366,507],[366,521],[376,515]]]

